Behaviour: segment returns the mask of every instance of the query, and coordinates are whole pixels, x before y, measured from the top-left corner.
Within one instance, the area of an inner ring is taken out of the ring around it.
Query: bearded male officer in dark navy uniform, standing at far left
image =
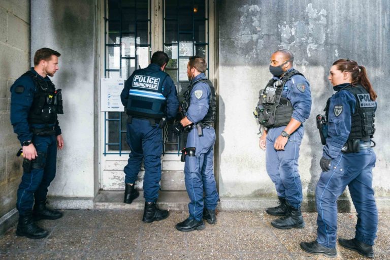
[[[48,187],[55,177],[57,148],[63,148],[57,114],[62,114],[61,90],[49,77],[58,71],[57,51],[37,50],[34,68],[11,86],[11,124],[22,145],[23,175],[17,192],[18,236],[44,238],[39,219],[57,219],[62,213],[46,207]],[[35,203],[34,203],[35,202]],[[33,208],[34,205],[34,208]]]

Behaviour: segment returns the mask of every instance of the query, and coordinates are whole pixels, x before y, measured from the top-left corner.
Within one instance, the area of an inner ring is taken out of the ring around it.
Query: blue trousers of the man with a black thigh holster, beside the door
[[[214,210],[219,195],[214,177],[215,130],[213,127],[203,128],[203,136],[197,129],[188,133],[186,147],[195,147],[195,156],[185,156],[184,182],[190,203],[189,218],[201,220],[203,208]]]

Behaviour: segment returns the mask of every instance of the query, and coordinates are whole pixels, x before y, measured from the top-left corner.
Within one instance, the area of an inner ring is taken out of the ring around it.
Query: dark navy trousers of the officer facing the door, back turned
[[[144,198],[146,202],[155,202],[158,199],[161,179],[162,129],[158,128],[157,124],[150,125],[147,119],[133,118],[132,123],[127,124],[126,137],[131,153],[123,170],[124,182],[136,182],[144,159]]]

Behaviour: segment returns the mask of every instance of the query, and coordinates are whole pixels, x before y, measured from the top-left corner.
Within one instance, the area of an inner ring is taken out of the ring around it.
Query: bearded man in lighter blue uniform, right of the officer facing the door
[[[179,231],[203,230],[203,219],[209,224],[216,222],[215,208],[219,200],[213,163],[216,95],[213,84],[206,78],[206,69],[207,63],[203,57],[189,58],[187,76],[190,86],[181,106],[185,116],[173,127],[176,135],[184,129],[189,131],[186,148],[182,150],[185,160],[184,181],[190,199],[189,217],[176,224]]]

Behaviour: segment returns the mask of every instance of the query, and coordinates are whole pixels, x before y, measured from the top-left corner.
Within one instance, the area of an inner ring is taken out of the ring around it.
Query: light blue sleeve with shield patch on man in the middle
[[[205,82],[197,83],[191,90],[191,101],[186,116],[192,123],[198,123],[209,110],[210,87]]]

